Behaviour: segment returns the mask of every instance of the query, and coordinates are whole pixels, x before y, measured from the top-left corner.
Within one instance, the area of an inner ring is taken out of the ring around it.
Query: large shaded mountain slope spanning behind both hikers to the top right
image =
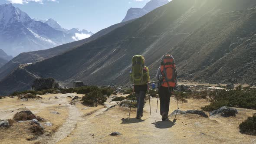
[[[255,13],[254,9],[247,10],[247,8],[254,6],[256,6],[254,0],[172,0],[167,5],[114,29],[98,39],[77,46],[61,55],[17,69],[11,76],[2,79],[0,92],[2,94],[13,92],[14,89],[11,90],[11,88],[14,88],[14,85],[19,85],[20,89],[27,87],[32,81],[22,77],[31,75],[53,77],[64,85],[71,85],[77,80],[90,85],[127,83],[131,57],[136,54],[144,55],[151,77],[159,66],[159,59],[165,53],[174,55],[180,77],[184,78],[187,75],[186,72],[190,72],[189,76],[194,73],[205,75],[203,70],[210,69],[211,65],[212,69],[217,68],[213,62],[217,62],[218,59],[221,62],[220,58],[226,55],[227,51],[223,47],[229,47],[231,43],[222,42],[230,39],[230,36],[236,36],[232,35],[233,32],[240,32],[239,36],[253,33]],[[240,12],[232,12],[237,10]],[[223,13],[226,13],[226,17],[223,17]],[[211,25],[213,19],[216,20],[215,25]],[[227,21],[229,23],[226,23]],[[232,21],[238,24],[232,25]],[[243,24],[246,26],[246,31],[240,30]],[[184,39],[197,41],[188,41],[190,43],[181,47],[182,43],[187,42]],[[239,64],[247,62],[248,59],[243,59]],[[224,64],[227,65],[227,63]],[[205,67],[206,65],[208,67]],[[230,73],[228,68],[222,69],[225,69],[224,72],[227,75]],[[22,73],[18,72],[20,70]],[[249,69],[246,70],[249,72]],[[214,71],[211,72],[214,73]],[[210,72],[207,75],[209,74]],[[196,76],[187,77],[187,79],[197,80]],[[217,79],[223,79],[220,75],[218,76]],[[201,82],[205,80],[203,77],[200,79]],[[236,82],[249,83],[248,80],[241,79],[236,79]]]

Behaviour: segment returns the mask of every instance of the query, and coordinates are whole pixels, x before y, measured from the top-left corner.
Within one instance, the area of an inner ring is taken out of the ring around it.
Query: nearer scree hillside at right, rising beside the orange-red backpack
[[[256,85],[255,41],[253,8],[213,16],[169,53],[176,58],[180,79]]]

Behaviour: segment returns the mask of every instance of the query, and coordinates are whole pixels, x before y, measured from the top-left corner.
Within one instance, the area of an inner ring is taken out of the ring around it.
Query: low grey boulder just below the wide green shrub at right
[[[230,117],[230,116],[235,117],[237,113],[238,112],[235,108],[221,107],[220,109],[210,112],[210,116],[220,115],[222,117]]]

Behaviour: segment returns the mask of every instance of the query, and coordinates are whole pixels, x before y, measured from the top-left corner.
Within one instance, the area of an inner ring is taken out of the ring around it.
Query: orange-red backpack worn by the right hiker
[[[174,58],[171,55],[164,55],[161,61],[161,74],[163,75],[163,87],[176,87],[177,71]]]

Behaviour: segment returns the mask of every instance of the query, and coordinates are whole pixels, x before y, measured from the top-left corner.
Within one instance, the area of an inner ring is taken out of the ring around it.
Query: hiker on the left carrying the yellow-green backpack
[[[137,119],[143,116],[144,99],[148,90],[148,82],[150,80],[148,67],[144,66],[145,59],[141,55],[132,57],[132,69],[130,72],[130,80],[134,84],[135,96],[137,98]]]

